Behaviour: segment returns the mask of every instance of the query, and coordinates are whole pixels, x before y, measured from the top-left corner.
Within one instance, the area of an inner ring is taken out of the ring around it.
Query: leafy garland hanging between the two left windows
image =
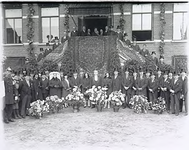
[[[27,33],[27,39],[28,39],[28,43],[29,43],[29,47],[27,48],[28,52],[29,52],[29,63],[28,63],[28,68],[30,69],[36,69],[37,66],[37,60],[36,60],[36,56],[34,53],[34,45],[33,45],[33,37],[34,37],[34,21],[33,21],[33,16],[35,14],[35,10],[33,8],[33,4],[30,3],[28,4],[28,22],[26,24],[26,26],[28,27],[28,33]]]

